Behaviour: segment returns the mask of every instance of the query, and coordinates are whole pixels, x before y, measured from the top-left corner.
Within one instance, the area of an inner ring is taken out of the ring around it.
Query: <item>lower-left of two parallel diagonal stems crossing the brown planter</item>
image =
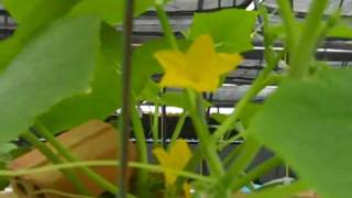
[[[53,164],[61,164],[63,160],[59,158],[53,151],[43,142],[37,140],[37,138],[31,133],[26,132],[22,134],[29,143],[31,143],[34,147],[36,147],[47,160],[50,160]],[[62,173],[67,177],[70,184],[75,187],[75,189],[82,195],[91,195],[90,190],[79,180],[76,173],[72,169],[64,169]]]

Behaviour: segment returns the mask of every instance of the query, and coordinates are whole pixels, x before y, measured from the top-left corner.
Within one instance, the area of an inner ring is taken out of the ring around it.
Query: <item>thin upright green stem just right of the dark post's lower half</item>
[[[132,102],[135,105],[135,101]],[[141,118],[139,114],[139,111],[136,110],[135,106],[131,107],[131,116],[132,116],[132,125],[133,125],[133,133],[136,139],[136,150],[139,154],[139,160],[142,163],[147,164],[148,158],[147,158],[147,145],[145,142],[145,133],[143,130],[143,125],[141,122]],[[144,169],[140,169],[138,173],[138,189],[140,193],[145,191],[145,188],[148,186],[148,176],[147,172]]]

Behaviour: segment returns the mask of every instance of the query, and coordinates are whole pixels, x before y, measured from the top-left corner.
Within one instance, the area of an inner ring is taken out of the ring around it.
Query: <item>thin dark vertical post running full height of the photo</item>
[[[129,157],[129,139],[131,128],[131,73],[132,73],[132,29],[133,29],[133,6],[134,0],[124,1],[124,23],[123,23],[123,62],[122,62],[122,112],[121,112],[121,130],[120,130],[120,198],[127,197],[128,185],[127,168]]]

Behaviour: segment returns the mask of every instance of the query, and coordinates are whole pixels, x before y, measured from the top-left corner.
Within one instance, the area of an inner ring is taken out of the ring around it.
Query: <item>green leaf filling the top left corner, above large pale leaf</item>
[[[19,26],[10,38],[0,42],[0,70],[8,66],[31,37],[67,13],[78,0],[2,0],[2,2]]]

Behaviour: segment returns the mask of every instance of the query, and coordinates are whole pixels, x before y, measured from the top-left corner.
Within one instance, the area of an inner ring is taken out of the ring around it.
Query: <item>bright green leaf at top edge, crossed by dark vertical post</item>
[[[140,15],[148,8],[153,7],[154,0],[136,0],[134,15]],[[97,14],[110,25],[119,24],[123,21],[124,0],[82,0],[73,11],[72,15]]]

